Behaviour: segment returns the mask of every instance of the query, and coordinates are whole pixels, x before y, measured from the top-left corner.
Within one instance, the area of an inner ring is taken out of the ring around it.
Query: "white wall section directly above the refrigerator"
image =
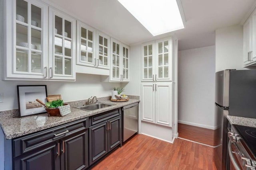
[[[243,68],[243,26],[235,25],[217,29],[216,72],[225,69]]]

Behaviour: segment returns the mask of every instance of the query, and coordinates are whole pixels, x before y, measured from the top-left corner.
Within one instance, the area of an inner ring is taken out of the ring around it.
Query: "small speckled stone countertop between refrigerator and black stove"
[[[230,124],[256,127],[256,119],[248,117],[238,117],[227,115],[228,121]]]

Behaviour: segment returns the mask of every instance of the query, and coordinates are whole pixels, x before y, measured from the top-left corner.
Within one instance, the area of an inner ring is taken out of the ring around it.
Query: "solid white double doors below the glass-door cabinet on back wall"
[[[142,83],[141,91],[142,121],[172,127],[172,83]]]

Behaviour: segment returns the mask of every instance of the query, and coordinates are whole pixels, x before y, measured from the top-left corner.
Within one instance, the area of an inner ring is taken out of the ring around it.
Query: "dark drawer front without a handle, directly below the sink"
[[[94,115],[90,117],[90,126],[100,123],[102,121],[108,120],[112,117],[120,115],[120,108],[115,110],[106,111],[104,113]]]

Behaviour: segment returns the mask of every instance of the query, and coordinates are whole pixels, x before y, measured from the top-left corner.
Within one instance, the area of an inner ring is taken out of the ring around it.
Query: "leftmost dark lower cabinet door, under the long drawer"
[[[15,158],[15,170],[58,170],[58,144],[52,143],[40,150]]]

